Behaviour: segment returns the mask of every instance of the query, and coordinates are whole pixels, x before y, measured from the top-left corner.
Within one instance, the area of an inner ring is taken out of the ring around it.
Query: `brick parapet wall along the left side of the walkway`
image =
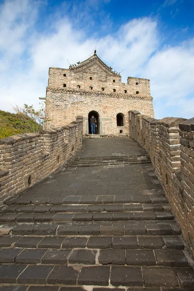
[[[56,171],[82,146],[83,120],[0,140],[0,203]]]

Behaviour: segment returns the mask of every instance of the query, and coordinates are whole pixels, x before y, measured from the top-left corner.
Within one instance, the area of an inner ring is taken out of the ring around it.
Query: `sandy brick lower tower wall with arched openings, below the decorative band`
[[[85,134],[90,111],[96,111],[99,114],[101,127],[103,127],[101,132],[108,135],[119,135],[120,130],[123,130],[122,134],[129,134],[129,110],[141,110],[145,114],[154,116],[151,97],[48,89],[46,102],[49,119],[54,122],[54,126],[63,126],[75,120],[76,116],[82,115],[83,134]],[[117,113],[124,115],[123,127],[117,127]]]

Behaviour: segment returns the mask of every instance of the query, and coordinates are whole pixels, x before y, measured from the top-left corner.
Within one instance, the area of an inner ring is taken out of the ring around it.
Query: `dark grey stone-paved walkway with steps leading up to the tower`
[[[1,212],[0,291],[194,291],[180,228],[130,138],[87,139]]]

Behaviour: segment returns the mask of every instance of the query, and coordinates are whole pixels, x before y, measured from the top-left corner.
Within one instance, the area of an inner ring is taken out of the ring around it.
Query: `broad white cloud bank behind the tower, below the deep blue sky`
[[[133,19],[104,37],[88,36],[83,29],[73,27],[67,16],[56,16],[52,22],[49,19],[50,33],[39,32],[35,27],[41,3],[21,3],[7,0],[1,5],[0,16],[8,21],[0,22],[0,109],[11,111],[11,105],[24,103],[38,107],[38,97],[46,93],[49,67],[68,67],[67,59],[75,64],[97,46],[103,60],[117,71],[124,69],[123,81],[128,76],[150,79],[156,117],[164,117],[169,109],[172,116],[182,111],[180,116],[192,117],[186,104],[192,104],[194,92],[194,40],[161,50],[157,21],[148,17]],[[161,103],[163,112],[159,112]]]

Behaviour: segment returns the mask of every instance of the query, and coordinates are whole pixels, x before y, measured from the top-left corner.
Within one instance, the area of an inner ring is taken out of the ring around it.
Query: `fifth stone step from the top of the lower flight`
[[[0,237],[1,248],[33,249],[184,249],[180,236],[19,236],[3,235]]]

